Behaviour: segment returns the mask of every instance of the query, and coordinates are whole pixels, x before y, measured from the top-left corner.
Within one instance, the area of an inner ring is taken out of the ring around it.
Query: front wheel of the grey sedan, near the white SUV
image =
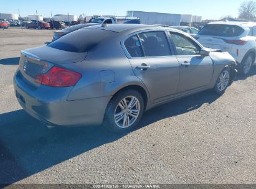
[[[214,86],[214,91],[217,94],[224,94],[227,86],[230,83],[230,69],[229,67],[224,68],[221,71],[219,77],[217,78],[216,84]]]

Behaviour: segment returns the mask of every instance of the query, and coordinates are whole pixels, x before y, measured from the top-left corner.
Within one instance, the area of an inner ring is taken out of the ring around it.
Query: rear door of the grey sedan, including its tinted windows
[[[139,40],[140,39],[140,40]],[[151,103],[170,98],[179,82],[179,62],[164,31],[148,31],[125,40],[134,73],[148,88]]]

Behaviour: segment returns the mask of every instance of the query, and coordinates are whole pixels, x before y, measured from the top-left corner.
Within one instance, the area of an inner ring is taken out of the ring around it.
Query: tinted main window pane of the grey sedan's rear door
[[[169,56],[171,51],[164,32],[145,32],[139,34],[146,57]]]

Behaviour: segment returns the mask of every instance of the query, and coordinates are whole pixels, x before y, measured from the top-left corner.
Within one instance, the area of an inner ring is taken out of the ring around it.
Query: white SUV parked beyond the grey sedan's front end
[[[255,63],[256,22],[211,22],[194,38],[204,47],[229,52],[241,75],[247,75]]]

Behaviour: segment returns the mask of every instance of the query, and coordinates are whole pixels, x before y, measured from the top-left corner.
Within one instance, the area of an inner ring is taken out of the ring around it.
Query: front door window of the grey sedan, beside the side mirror
[[[186,36],[181,34],[171,34],[171,39],[176,47],[177,55],[196,55],[199,53],[199,47],[192,43]]]

